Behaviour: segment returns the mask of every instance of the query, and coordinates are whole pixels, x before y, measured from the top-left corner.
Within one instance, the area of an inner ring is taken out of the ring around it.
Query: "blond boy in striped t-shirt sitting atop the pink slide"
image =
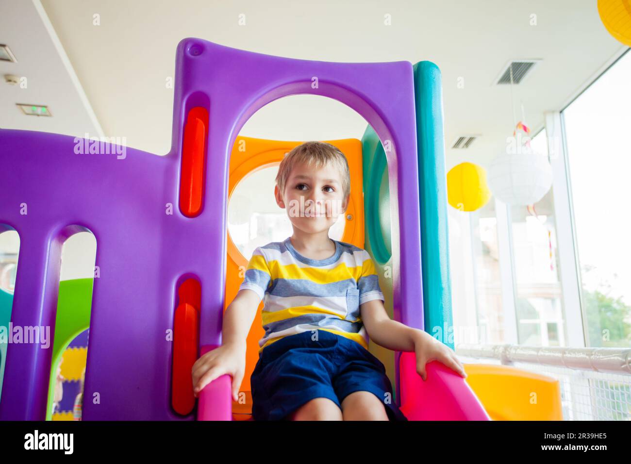
[[[286,155],[274,195],[293,235],[258,247],[223,318],[223,344],[193,366],[194,393],[223,374],[235,401],[245,371],[245,338],[264,299],[259,360],[252,372],[254,420],[407,420],[392,398],[384,365],[368,337],[415,351],[417,371],[437,359],[461,376],[451,348],[392,321],[367,251],[329,239],[346,211],[346,157],[328,143],[305,142]]]

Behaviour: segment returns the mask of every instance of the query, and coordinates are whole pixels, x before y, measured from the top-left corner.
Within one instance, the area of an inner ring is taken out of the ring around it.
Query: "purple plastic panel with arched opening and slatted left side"
[[[399,211],[398,224],[393,223],[399,230],[392,233],[394,316],[420,327],[410,62],[304,61],[184,39],[177,47],[172,149],[165,157],[133,148],[126,148],[124,159],[75,154],[77,144],[69,136],[0,130],[0,162],[11,166],[0,171],[0,223],[14,227],[21,239],[14,325],[54,324],[62,241],[85,229],[97,239],[100,277],[94,280],[84,420],[193,419],[170,409],[166,333],[173,324],[177,285],[186,276],[198,277],[200,343],[219,345],[230,151],[254,112],[300,93],[348,105],[375,129],[386,150],[391,148],[386,151],[391,191],[398,192],[391,196],[391,207]],[[180,152],[186,114],[195,106],[209,110],[208,170],[203,210],[187,218],[178,208]],[[24,203],[26,215],[21,214]],[[49,369],[49,350],[9,345],[0,419],[44,419]]]

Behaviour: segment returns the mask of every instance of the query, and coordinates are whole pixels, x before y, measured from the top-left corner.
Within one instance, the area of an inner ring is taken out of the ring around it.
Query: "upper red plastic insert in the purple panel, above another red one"
[[[184,126],[180,172],[180,211],[187,217],[195,217],[201,211],[207,139],[208,110],[194,107],[189,111]]]

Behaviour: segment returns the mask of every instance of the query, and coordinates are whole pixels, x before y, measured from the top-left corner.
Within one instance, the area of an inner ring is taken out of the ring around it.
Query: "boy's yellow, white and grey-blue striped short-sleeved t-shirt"
[[[290,239],[257,247],[239,290],[263,299],[259,353],[284,336],[326,330],[368,349],[360,304],[384,300],[375,266],[367,251],[333,241],[335,253],[326,259],[305,258]]]

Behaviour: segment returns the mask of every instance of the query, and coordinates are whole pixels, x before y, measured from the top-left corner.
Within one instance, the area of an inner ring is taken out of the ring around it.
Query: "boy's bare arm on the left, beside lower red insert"
[[[245,373],[246,338],[256,316],[261,297],[241,289],[223,314],[221,346],[200,357],[192,367],[193,391],[197,397],[216,378],[232,376],[232,397],[239,400],[239,387]]]

